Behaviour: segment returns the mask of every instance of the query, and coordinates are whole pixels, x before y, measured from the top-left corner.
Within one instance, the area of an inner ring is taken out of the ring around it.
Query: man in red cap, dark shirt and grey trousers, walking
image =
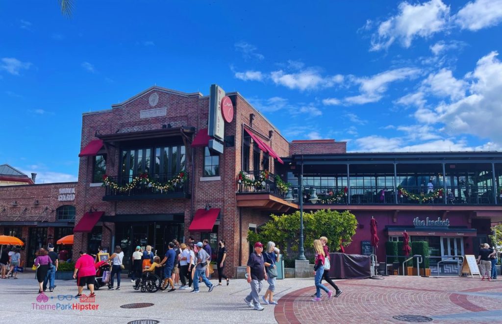
[[[255,252],[249,255],[247,259],[246,278],[251,284],[251,293],[244,298],[245,303],[249,307],[254,307],[255,310],[263,310],[260,305],[259,293],[262,291],[262,280],[267,280],[267,272],[265,272],[265,261],[263,258],[263,244],[255,243]]]

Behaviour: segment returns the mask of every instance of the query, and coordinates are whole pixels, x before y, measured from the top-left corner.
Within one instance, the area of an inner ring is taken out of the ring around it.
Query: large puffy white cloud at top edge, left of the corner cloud
[[[427,38],[447,28],[450,8],[441,0],[416,5],[405,1],[398,9],[398,15],[379,25],[371,39],[371,51],[387,49],[395,41],[408,48],[414,38]]]

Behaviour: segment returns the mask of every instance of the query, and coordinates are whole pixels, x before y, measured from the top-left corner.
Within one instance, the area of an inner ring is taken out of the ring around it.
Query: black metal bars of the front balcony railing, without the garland
[[[161,195],[161,194],[171,194],[171,193],[185,193],[188,194],[189,178],[188,172],[184,172],[186,180],[174,183],[169,189],[165,190],[163,188],[157,188],[152,183],[139,182],[135,187],[130,190],[119,190],[112,188],[111,186],[106,186],[105,196],[136,196],[136,195]],[[171,181],[179,175],[176,173],[165,173],[165,174],[149,174],[148,177],[155,182],[155,185],[168,185]],[[117,177],[117,184],[120,187],[124,187],[133,182],[137,176],[125,176]]]

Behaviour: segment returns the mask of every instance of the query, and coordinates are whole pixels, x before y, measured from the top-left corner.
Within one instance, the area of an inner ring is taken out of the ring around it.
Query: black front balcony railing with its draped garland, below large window
[[[105,196],[103,200],[136,200],[136,199],[159,199],[159,198],[188,198],[189,178],[188,173],[183,172],[184,179],[174,181],[179,178],[180,173],[148,174],[148,180],[137,181],[136,185],[125,189],[128,185],[134,184],[138,176],[118,177],[114,186],[105,186]],[[141,177],[140,177],[141,178]]]

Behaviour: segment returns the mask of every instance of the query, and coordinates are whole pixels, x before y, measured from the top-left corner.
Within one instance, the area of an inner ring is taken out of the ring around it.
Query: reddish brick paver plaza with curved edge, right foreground
[[[313,284],[312,280],[312,284]],[[431,317],[434,323],[502,323],[502,280],[388,276],[384,280],[341,280],[338,297],[310,301],[315,287],[279,299],[279,323],[405,323],[396,315]],[[327,285],[328,288],[331,286]]]

